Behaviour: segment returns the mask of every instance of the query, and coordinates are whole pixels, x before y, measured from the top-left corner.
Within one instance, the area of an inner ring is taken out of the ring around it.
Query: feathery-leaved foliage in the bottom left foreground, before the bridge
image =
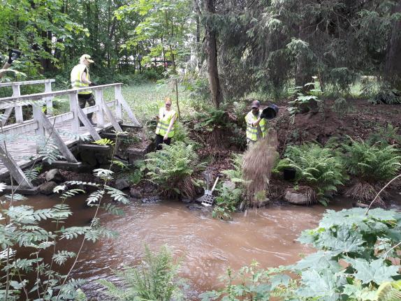
[[[99,145],[115,145],[108,139],[97,140]],[[57,159],[57,148],[48,150],[48,161]],[[50,208],[36,210],[31,205],[18,204],[27,200],[13,192],[0,200],[0,267],[3,277],[0,281],[1,300],[74,300],[82,297],[78,286],[82,279],[73,279],[71,271],[78,262],[85,242],[96,242],[102,237],[115,237],[117,233],[104,228],[100,213],[122,214],[122,209],[114,202],[129,203],[125,193],[109,186],[113,179],[112,167],[120,164],[114,161],[114,154],[108,169],[93,170],[101,184],[82,181],[67,181],[56,186],[54,193],[60,193],[59,203]],[[32,167],[29,175],[34,176]],[[3,186],[0,185],[3,189]],[[66,226],[73,214],[67,200],[86,190],[93,191],[85,201],[96,210],[88,225]],[[112,202],[114,201],[114,202]],[[52,223],[49,230],[45,221]],[[45,225],[45,226],[43,226]],[[78,240],[78,251],[59,248],[61,240]],[[26,254],[20,252],[27,250]],[[68,263],[68,273],[59,272],[61,265]]]

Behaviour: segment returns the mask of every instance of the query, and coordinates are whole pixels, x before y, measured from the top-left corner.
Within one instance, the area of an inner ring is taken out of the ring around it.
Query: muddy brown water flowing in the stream
[[[51,207],[59,202],[55,196],[36,196],[29,205],[36,208]],[[393,206],[399,208],[401,200]],[[337,200],[330,209],[350,207],[349,200]],[[85,207],[85,198],[69,201],[73,216],[66,226],[89,223],[94,208]],[[302,230],[314,228],[321,214],[327,209],[321,205],[311,207],[265,207],[233,214],[233,221],[212,219],[210,213],[191,211],[179,202],[131,203],[123,207],[124,216],[102,214],[106,228],[116,230],[114,240],[87,242],[75,266],[72,277],[87,279],[83,287],[89,300],[105,300],[97,279],[115,281],[113,270],[124,265],[140,263],[144,246],[156,250],[167,244],[176,257],[181,258],[180,276],[187,279],[189,300],[199,300],[198,294],[219,288],[219,276],[227,267],[238,269],[254,259],[261,267],[288,265],[300,259],[312,249],[296,238]],[[80,241],[64,241],[61,249],[77,251]],[[67,270],[62,271],[67,272]]]

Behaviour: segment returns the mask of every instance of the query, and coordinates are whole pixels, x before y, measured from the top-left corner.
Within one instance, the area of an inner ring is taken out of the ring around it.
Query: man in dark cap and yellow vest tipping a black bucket
[[[266,122],[263,118],[262,111],[259,110],[261,103],[259,101],[252,101],[251,111],[245,116],[247,122],[247,145],[251,147],[254,143],[261,138],[265,137]]]

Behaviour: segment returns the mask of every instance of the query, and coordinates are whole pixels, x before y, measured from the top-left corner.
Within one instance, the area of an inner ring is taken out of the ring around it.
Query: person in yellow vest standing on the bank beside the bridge
[[[160,108],[159,115],[156,116],[156,120],[156,150],[160,150],[163,143],[170,145],[171,138],[174,136],[177,112],[171,109],[170,98],[166,98],[164,107]]]

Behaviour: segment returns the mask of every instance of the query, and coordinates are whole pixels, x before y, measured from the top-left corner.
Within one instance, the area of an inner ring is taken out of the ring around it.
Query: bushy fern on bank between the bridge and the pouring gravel
[[[147,175],[150,181],[159,185],[162,193],[168,197],[195,195],[192,173],[201,168],[198,154],[193,145],[175,142],[163,145],[163,149],[146,155]]]

